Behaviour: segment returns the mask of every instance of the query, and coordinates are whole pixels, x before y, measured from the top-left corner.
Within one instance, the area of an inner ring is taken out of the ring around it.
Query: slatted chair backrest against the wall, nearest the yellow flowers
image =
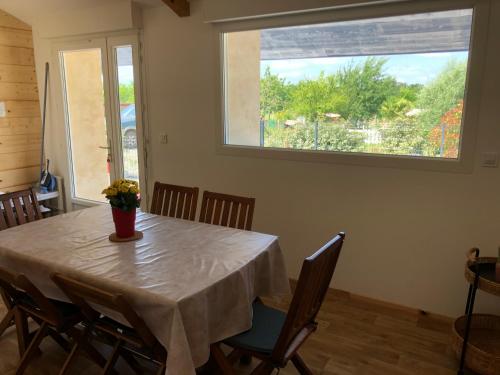
[[[197,187],[162,184],[155,182],[151,213],[194,220],[198,204]]]

